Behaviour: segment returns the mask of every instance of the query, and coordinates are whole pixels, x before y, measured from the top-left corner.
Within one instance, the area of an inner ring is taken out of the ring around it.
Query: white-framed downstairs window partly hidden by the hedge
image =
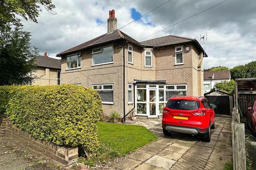
[[[92,88],[99,93],[102,104],[114,104],[113,84],[97,84]]]

